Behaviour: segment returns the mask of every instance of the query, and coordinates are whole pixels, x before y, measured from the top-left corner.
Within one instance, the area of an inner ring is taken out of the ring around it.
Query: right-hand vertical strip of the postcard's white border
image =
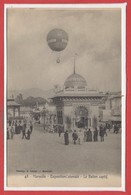
[[[122,188],[125,189],[126,180],[126,6],[122,9],[122,25],[121,25],[121,86],[122,86]]]

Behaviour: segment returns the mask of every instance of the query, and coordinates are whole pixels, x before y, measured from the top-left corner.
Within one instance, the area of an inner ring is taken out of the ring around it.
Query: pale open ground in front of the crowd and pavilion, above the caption
[[[43,133],[35,127],[30,140],[15,135],[8,140],[8,174],[16,170],[44,170],[53,173],[104,173],[120,175],[120,134],[108,134],[105,142],[64,145],[64,136]]]

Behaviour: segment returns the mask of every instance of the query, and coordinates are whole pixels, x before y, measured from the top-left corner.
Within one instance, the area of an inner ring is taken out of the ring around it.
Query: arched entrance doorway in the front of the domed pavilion
[[[84,106],[75,109],[75,126],[77,128],[88,127],[88,110]]]

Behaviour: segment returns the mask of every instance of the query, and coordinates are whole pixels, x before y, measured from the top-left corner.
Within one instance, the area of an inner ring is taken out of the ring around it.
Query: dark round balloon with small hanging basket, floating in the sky
[[[48,33],[47,43],[52,51],[57,52],[58,55],[60,55],[60,52],[67,46],[68,34],[62,29],[55,28]],[[60,63],[60,57],[57,57],[56,62]]]

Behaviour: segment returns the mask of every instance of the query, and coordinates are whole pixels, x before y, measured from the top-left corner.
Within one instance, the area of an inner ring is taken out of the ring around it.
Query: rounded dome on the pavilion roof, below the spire
[[[65,88],[85,88],[87,86],[86,80],[79,74],[71,74],[64,83]]]

